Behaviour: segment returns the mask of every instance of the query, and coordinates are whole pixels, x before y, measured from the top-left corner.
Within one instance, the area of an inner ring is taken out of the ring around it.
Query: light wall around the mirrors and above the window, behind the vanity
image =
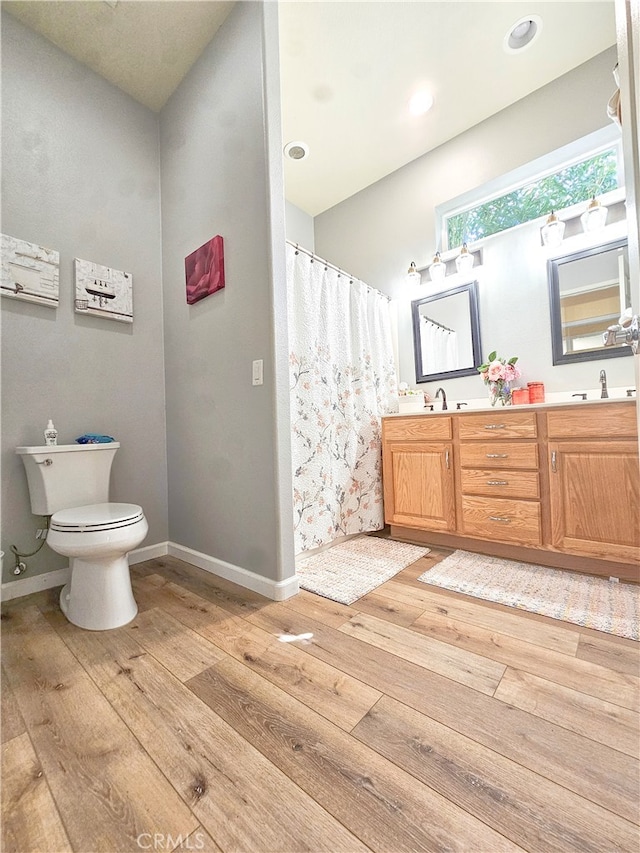
[[[402,381],[415,383],[410,301],[418,298],[408,293],[404,273],[412,259],[419,267],[430,261],[436,248],[435,208],[609,125],[605,107],[614,88],[615,61],[611,48],[315,217],[321,257],[397,298]],[[601,367],[610,384],[631,382],[631,359],[552,366],[546,258],[523,251],[522,241],[529,237],[522,231],[509,238],[509,245],[504,239],[492,238],[485,247],[480,288],[485,355],[496,348],[519,355],[525,378],[541,380],[550,390],[597,386]],[[484,392],[478,377],[447,385],[454,398]]]

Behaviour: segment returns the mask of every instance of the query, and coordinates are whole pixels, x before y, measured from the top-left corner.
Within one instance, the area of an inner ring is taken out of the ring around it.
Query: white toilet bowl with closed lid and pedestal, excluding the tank
[[[119,628],[135,618],[128,552],[149,526],[136,504],[102,503],[60,510],[51,517],[49,547],[69,557],[71,580],[60,593],[69,622],[89,631]]]

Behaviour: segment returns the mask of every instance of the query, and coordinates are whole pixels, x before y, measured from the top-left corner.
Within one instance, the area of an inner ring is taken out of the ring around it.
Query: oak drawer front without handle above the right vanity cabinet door
[[[597,403],[547,412],[549,438],[635,438],[635,401]]]

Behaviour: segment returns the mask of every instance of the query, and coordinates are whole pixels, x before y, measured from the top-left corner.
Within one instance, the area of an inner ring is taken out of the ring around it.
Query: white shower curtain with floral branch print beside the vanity
[[[389,302],[287,244],[294,544],[384,526],[380,416],[397,411]]]

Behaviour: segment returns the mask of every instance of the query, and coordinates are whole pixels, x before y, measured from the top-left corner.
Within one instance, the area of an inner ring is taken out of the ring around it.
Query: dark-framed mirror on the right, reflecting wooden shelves
[[[603,334],[631,305],[626,238],[547,263],[554,364],[631,355],[605,347]]]

